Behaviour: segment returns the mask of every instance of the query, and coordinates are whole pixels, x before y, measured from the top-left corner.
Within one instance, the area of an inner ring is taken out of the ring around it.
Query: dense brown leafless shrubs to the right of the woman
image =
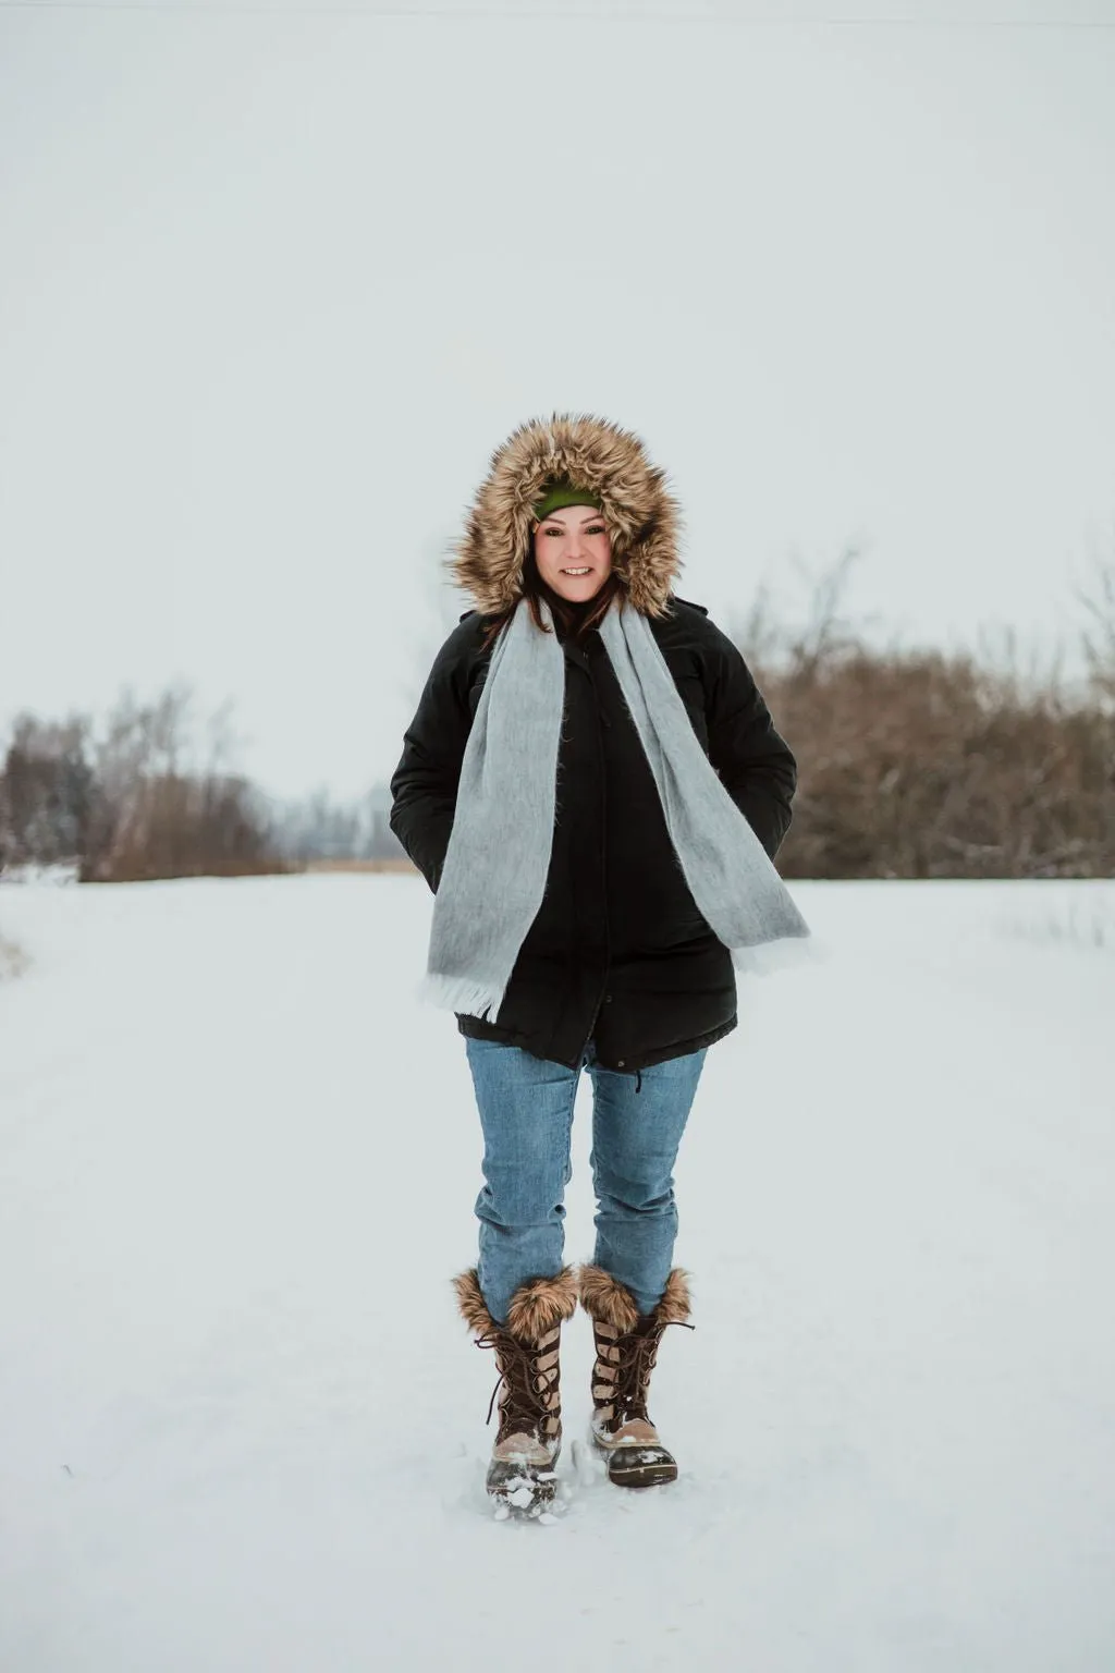
[[[869,647],[849,627],[844,557],[806,627],[742,639],[799,758],[791,877],[1107,877],[1115,729],[1058,659],[1013,636],[970,652]]]

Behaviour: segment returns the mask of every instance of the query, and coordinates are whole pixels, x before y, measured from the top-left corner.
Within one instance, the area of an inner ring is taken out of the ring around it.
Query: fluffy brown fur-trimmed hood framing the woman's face
[[[450,560],[480,614],[498,616],[522,597],[533,507],[553,477],[600,499],[615,574],[635,609],[664,616],[682,569],[680,509],[639,437],[590,413],[532,418],[493,452]]]

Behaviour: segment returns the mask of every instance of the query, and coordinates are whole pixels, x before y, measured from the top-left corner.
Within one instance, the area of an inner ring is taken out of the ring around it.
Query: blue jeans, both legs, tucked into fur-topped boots
[[[485,1139],[478,1276],[491,1317],[505,1323],[520,1283],[562,1270],[573,1099],[583,1067],[592,1076],[593,1261],[649,1313],[670,1273],[674,1161],[709,1047],[652,1064],[639,1089],[634,1074],[600,1067],[593,1041],[577,1069],[500,1041],[466,1036],[465,1051]]]

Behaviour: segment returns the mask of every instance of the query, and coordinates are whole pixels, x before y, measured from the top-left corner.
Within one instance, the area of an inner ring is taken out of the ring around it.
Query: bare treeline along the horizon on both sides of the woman
[[[799,763],[786,877],[1115,875],[1115,565],[1080,599],[1083,678],[998,652],[886,649],[843,614],[846,554],[806,626],[759,596],[729,627]],[[102,724],[22,714],[2,746],[0,875],[239,877],[405,862],[386,781],[359,803],[276,803],[231,766],[227,713],[192,741],[192,698],[120,699]],[[384,780],[395,763],[384,763]]]

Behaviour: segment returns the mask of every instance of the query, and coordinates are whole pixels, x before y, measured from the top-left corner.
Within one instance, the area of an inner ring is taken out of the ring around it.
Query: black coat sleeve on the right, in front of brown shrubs
[[[791,826],[797,761],[739,649],[717,636],[707,691],[709,760],[771,860]]]

